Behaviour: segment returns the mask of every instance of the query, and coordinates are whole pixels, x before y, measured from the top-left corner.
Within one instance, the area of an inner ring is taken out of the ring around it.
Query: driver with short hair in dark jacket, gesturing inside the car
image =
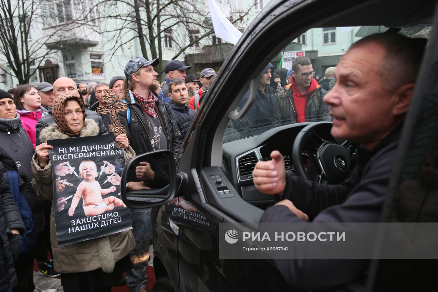
[[[324,101],[334,117],[332,136],[360,144],[357,169],[342,185],[317,184],[286,174],[282,155],[273,151],[271,161],[256,164],[254,185],[283,200],[266,209],[261,222],[380,221],[423,50],[413,39],[390,34],[368,36],[350,47]],[[393,71],[404,74],[389,81]],[[274,261],[291,286],[310,290],[352,281],[367,267],[366,260]]]

